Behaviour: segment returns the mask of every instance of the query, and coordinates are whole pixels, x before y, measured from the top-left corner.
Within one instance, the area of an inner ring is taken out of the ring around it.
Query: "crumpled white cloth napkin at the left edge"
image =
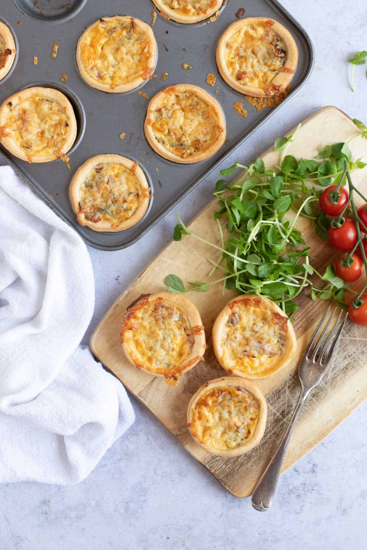
[[[9,166],[0,205],[0,482],[76,483],[134,412],[78,347],[94,309],[85,244]]]

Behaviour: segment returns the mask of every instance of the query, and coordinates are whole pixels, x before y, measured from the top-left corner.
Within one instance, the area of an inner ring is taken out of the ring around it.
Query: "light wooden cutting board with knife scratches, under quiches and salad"
[[[296,158],[314,158],[324,145],[347,141],[357,131],[352,120],[342,111],[335,107],[324,107],[303,122],[297,140],[291,144],[288,153]],[[353,158],[367,156],[366,140],[356,138],[351,148]],[[270,168],[279,162],[280,153],[271,148],[262,158],[266,167]],[[367,191],[367,168],[355,173],[353,182],[362,191]],[[217,201],[213,200],[193,219],[189,228],[219,245],[217,222],[213,220],[215,210]],[[306,244],[311,247],[311,255],[315,257],[312,263],[316,269],[322,269],[336,259],[337,253],[327,242],[317,237],[308,219],[300,219],[297,227],[302,231]],[[221,285],[215,284],[207,293],[189,294],[201,313],[209,348],[205,353],[205,361],[187,372],[176,387],[167,386],[162,378],[136,370],[125,359],[120,345],[120,325],[127,306],[133,300],[140,294],[165,290],[164,279],[169,273],[177,274],[184,282],[207,281],[211,266],[206,257],[217,261],[219,254],[192,237],[183,237],[178,243],[169,243],[108,310],[91,336],[90,348],[103,365],[147,406],[228,491],[237,497],[247,497],[253,492],[256,482],[271,459],[297,403],[300,391],[298,360],[327,304],[321,300],[316,303],[311,301],[307,289],[299,296],[299,310],[294,314],[294,328],[298,338],[295,359],[283,372],[258,382],[268,403],[264,438],[258,447],[235,458],[206,453],[194,443],[186,425],[186,411],[191,395],[207,379],[227,375],[213,354],[211,329],[218,312],[233,298],[234,291],[226,290],[223,296]],[[211,280],[215,281],[221,276],[216,272]],[[362,284],[359,283],[360,286]],[[347,324],[335,353],[335,360],[328,367],[322,383],[306,400],[288,447],[283,471],[320,443],[367,397],[366,340],[367,327]]]

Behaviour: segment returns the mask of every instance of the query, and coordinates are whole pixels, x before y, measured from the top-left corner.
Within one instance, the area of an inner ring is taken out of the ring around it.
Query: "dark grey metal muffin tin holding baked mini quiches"
[[[228,25],[237,20],[235,13],[242,7],[244,17],[265,16],[280,21],[291,31],[299,51],[292,92],[277,107],[260,112],[248,105],[242,94],[224,83],[215,62],[218,39]],[[43,85],[57,88],[72,102],[78,135],[68,153],[71,172],[67,171],[62,160],[29,164],[2,146],[0,155],[24,176],[59,216],[74,227],[87,244],[101,250],[119,250],[140,239],[229,153],[282,108],[303,86],[313,69],[314,51],[308,34],[276,0],[224,0],[216,21],[210,23],[206,20],[194,25],[174,23],[157,13],[152,29],[158,45],[155,71],[158,76],[147,81],[141,91],[152,97],[169,85],[189,83],[201,86],[222,106],[229,139],[229,143],[206,161],[190,165],[172,163],[158,156],[145,139],[146,98],[138,95],[136,90],[107,94],[91,88],[81,79],[75,61],[76,43],[84,29],[96,19],[122,14],[151,24],[152,9],[149,0],[69,0],[66,3],[65,0],[2,0],[0,19],[12,30],[18,53],[11,74],[0,81],[0,101],[24,87]],[[60,42],[56,59],[51,58],[54,40]],[[35,56],[37,65],[33,64]],[[188,63],[192,69],[183,69],[183,63]],[[161,75],[165,72],[168,78],[163,82]],[[61,82],[63,73],[68,74],[66,84]],[[207,73],[216,75],[214,87],[206,84]],[[244,100],[248,112],[246,119],[233,109],[233,103],[240,99]],[[119,135],[123,132],[126,137],[120,140]],[[70,206],[68,190],[73,174],[89,157],[100,153],[117,153],[137,160],[154,188],[144,218],[120,233],[97,233],[80,226]]]

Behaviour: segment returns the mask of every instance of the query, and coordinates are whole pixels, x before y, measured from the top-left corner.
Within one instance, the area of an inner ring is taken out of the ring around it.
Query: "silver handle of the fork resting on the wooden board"
[[[251,497],[251,504],[255,510],[266,511],[269,510],[272,504],[273,497],[277,488],[278,479],[281,472],[281,467],[283,464],[284,455],[288,447],[289,439],[293,432],[295,422],[297,421],[300,410],[304,400],[306,399],[308,392],[301,391],[298,399],[298,403],[294,409],[292,419],[289,422],[286,433],[284,433],[278,448],[271,459],[270,463],[267,465],[267,468],[260,477],[258,485],[256,485]]]

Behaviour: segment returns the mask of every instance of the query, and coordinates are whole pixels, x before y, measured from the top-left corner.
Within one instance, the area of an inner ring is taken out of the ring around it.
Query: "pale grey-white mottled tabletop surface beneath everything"
[[[365,68],[355,70],[353,94],[346,63],[355,51],[367,49],[365,0],[283,4],[314,42],[315,69],[303,89],[237,150],[232,162],[249,162],[325,105],[367,119]],[[211,199],[215,179],[213,175],[203,182],[132,248],[90,249],[96,307],[85,343],[108,307],[171,239],[174,213],[189,221]],[[367,403],[282,476],[273,508],[260,514],[249,499],[231,496],[143,405],[132,401],[135,424],[84,482],[0,487],[0,550],[365,548]]]

